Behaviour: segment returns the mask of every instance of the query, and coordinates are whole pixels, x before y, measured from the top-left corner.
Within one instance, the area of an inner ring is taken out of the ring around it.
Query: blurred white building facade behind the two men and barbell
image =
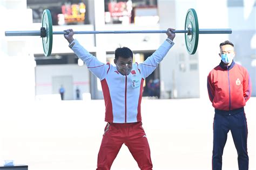
[[[166,30],[168,27],[184,30],[186,12],[193,8],[197,11],[199,29],[229,28],[233,33],[199,35],[198,49],[194,55],[186,52],[184,34],[177,33],[174,40],[176,44],[146,82],[150,79],[160,80],[160,98],[207,97],[206,77],[220,62],[219,44],[231,40],[237,52],[235,61],[248,69],[252,81],[252,96],[255,96],[255,1],[248,2],[3,0],[0,3],[1,16],[8,15],[8,18],[3,17],[6,24],[1,30],[39,30],[43,9],[51,10],[53,31],[69,28],[75,31]],[[84,6],[81,7],[81,3]],[[74,11],[77,12],[76,17],[73,15]],[[84,17],[83,20],[81,16]],[[160,46],[166,35],[79,34],[75,38],[102,62],[113,62],[114,50],[120,46],[131,48],[134,61],[142,62]],[[66,88],[66,100],[75,99],[76,88],[80,89],[84,97],[103,98],[100,82],[83,63],[79,64],[80,61],[62,35],[53,36],[52,55],[45,57],[41,38],[5,37],[2,34],[0,58],[1,72],[5,73],[2,79],[6,82],[1,85],[4,94],[2,98],[25,96],[34,100],[36,96],[36,99],[43,100],[47,96],[50,99],[58,94],[61,85]],[[5,89],[11,89],[11,95]],[[146,83],[144,96],[147,96]]]

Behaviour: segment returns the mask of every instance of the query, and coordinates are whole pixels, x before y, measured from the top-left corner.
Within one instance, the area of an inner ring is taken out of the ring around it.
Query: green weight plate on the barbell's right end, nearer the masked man
[[[189,9],[186,15],[185,30],[191,29],[191,35],[185,33],[185,41],[187,52],[194,54],[197,51],[198,38],[199,38],[199,26],[196,10]]]

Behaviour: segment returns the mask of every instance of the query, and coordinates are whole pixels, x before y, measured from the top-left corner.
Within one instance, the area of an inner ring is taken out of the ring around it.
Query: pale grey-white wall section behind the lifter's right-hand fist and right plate
[[[184,30],[186,12],[190,8],[197,8],[195,1],[158,1],[161,30],[173,27],[176,30]],[[197,9],[196,9],[197,10]],[[161,35],[161,41],[166,35]],[[171,91],[172,98],[199,97],[199,70],[190,71],[190,63],[198,63],[198,53],[193,60],[186,51],[185,37],[183,33],[177,33],[174,39],[175,45],[160,63],[160,79],[164,84],[162,94]],[[180,60],[184,58],[184,60]],[[181,72],[179,65],[184,65],[185,72]],[[189,86],[187,86],[189,84]]]

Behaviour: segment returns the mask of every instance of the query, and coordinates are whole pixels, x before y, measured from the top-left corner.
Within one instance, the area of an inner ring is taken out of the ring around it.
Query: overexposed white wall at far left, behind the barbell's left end
[[[30,38],[5,37],[4,31],[27,30],[32,11],[25,0],[0,2],[0,101],[31,101],[35,97],[35,61]]]

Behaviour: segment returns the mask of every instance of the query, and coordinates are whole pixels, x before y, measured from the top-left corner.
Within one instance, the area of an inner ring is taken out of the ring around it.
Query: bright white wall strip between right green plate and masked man
[[[199,3],[200,2],[200,3]],[[201,2],[198,1],[197,15],[199,29],[232,29],[228,25],[228,20],[232,19],[227,15],[227,2]],[[205,8],[205,6],[211,8]],[[213,11],[223,12],[213,12]],[[219,65],[219,44],[228,40],[228,34],[200,34],[198,43],[199,54],[199,80],[200,80],[200,97],[208,100],[207,93],[207,75],[217,65]]]

